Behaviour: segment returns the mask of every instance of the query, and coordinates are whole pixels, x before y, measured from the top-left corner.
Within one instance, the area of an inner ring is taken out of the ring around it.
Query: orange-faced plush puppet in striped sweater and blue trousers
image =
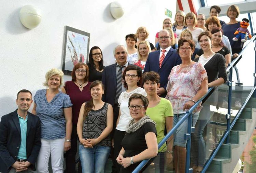
[[[236,37],[233,38],[234,41],[238,41],[238,39],[241,37],[241,41],[246,41],[246,33],[248,33],[249,38],[252,38],[252,35],[247,30],[249,26],[249,20],[246,18],[243,18],[243,20],[240,22],[240,28],[237,29],[237,31],[234,33]]]

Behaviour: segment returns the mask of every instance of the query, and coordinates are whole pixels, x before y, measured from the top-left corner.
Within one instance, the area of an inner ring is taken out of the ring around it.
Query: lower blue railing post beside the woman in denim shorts
[[[186,113],[189,114],[189,111],[186,111]],[[184,138],[185,138],[185,140],[187,140],[186,167],[185,167],[185,172],[186,173],[193,172],[193,169],[190,169],[191,128],[192,128],[192,113],[190,113],[190,115],[188,116],[187,133],[184,134]]]

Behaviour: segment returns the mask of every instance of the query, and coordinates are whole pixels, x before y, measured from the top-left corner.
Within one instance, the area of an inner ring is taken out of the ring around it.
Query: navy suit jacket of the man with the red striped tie
[[[170,49],[166,54],[165,59],[162,62],[161,68],[159,68],[159,56],[160,50],[151,52],[148,55],[146,65],[144,68],[144,73],[147,71],[155,71],[160,75],[160,87],[166,89],[168,83],[168,76],[171,73],[171,70],[174,66],[181,64],[181,57],[177,54],[177,51]],[[161,97],[165,97],[166,94],[163,94]]]

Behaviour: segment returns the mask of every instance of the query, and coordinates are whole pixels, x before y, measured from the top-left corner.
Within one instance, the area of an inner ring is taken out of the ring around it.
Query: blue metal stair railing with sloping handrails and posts
[[[230,71],[230,80],[229,81],[232,81],[232,68],[239,62],[239,60],[241,59],[242,57],[242,53],[245,51],[245,49],[247,49],[247,46],[249,44],[251,44],[251,42],[253,42],[254,40],[256,39],[256,34],[254,34],[254,36],[251,38],[251,40],[248,42],[248,44],[242,49],[242,51],[239,53],[239,56],[234,59],[232,61],[231,64],[229,64],[229,66],[227,67],[227,70],[226,71]],[[255,60],[256,61],[256,60]],[[256,63],[256,62],[255,62]],[[256,68],[256,67],[255,67]],[[256,69],[255,69],[256,71]],[[230,115],[230,110],[231,110],[231,90],[232,90],[232,87],[231,87],[231,84],[228,82],[228,85],[229,85],[229,99],[228,99],[228,114],[227,114],[227,119],[228,119],[228,122],[227,122],[227,130],[225,131],[224,135],[222,136],[221,140],[219,141],[217,147],[215,148],[215,150],[213,151],[213,153],[211,154],[210,158],[207,160],[207,162],[205,163],[204,165],[204,168],[203,170],[201,171],[202,173],[204,173],[208,167],[210,166],[210,163],[211,161],[213,160],[213,158],[216,156],[219,148],[221,148],[221,145],[223,144],[223,142],[226,140],[226,138],[229,136],[229,132],[230,132],[230,129],[232,129],[234,123],[237,121],[237,119],[239,118],[243,108],[245,107],[245,104],[248,102],[249,98],[252,96],[254,90],[256,87],[254,87],[252,89],[252,91],[250,92],[249,96],[247,97],[247,99],[245,100],[243,106],[241,107],[240,111],[238,112],[236,118],[232,121],[232,123],[230,124],[230,119],[228,117],[228,115]],[[160,148],[163,143],[165,143],[172,135],[173,133],[176,131],[176,129],[185,121],[186,118],[189,117],[190,114],[192,114],[192,112],[194,111],[194,109],[198,106],[198,104],[205,98],[208,96],[208,94],[210,93],[210,91],[213,89],[213,87],[209,88],[208,89],[208,92],[200,99],[198,100],[195,105],[193,105],[187,112],[186,114],[184,115],[184,117],[171,129],[171,131],[169,133],[167,133],[167,135],[159,142],[158,144],[158,148]],[[190,131],[190,135],[191,135],[191,131]],[[229,139],[227,139],[227,143],[229,142]],[[190,144],[190,143],[189,143]],[[189,155],[186,155],[186,157],[190,157],[190,153]],[[134,169],[134,171],[132,173],[138,173],[145,165],[146,163],[149,161],[150,159],[146,159],[146,160],[143,160],[136,169]],[[185,172],[188,173],[189,172],[189,168],[187,168],[187,158],[186,158],[186,168],[185,168]]]

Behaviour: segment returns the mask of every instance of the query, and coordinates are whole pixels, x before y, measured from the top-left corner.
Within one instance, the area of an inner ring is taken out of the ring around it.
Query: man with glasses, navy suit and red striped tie
[[[177,51],[171,48],[172,37],[167,30],[159,32],[158,42],[160,50],[148,55],[144,72],[155,71],[160,75],[160,87],[157,89],[157,95],[165,97],[168,76],[174,66],[181,64],[181,58]]]

